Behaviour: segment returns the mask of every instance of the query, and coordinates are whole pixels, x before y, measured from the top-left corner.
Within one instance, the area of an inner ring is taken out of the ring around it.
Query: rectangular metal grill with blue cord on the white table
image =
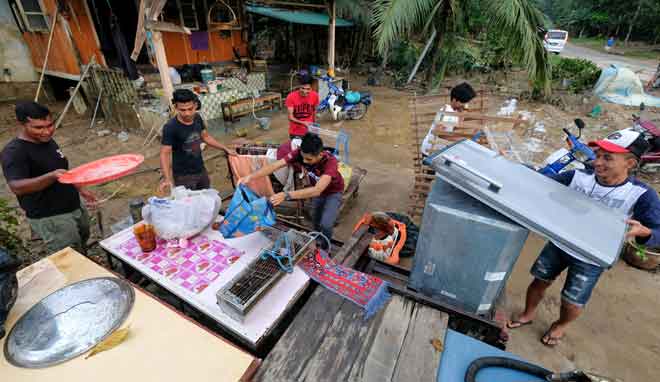
[[[294,263],[316,248],[314,238],[300,231],[288,230],[285,232],[276,228],[268,228],[263,233],[273,242],[280,235],[287,235],[295,254]],[[244,270],[218,291],[216,294],[218,305],[230,317],[243,321],[250,309],[284,273],[272,257],[262,259],[259,254]]]

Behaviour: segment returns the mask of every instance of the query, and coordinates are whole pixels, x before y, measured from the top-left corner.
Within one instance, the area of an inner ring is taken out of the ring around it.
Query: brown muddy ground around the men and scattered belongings
[[[515,77],[515,76],[514,76]],[[524,78],[516,78],[521,83]],[[457,81],[449,81],[451,85]],[[365,89],[363,80],[353,81],[354,88]],[[511,76],[500,85],[508,90]],[[367,211],[387,210],[407,212],[409,194],[413,183],[412,141],[410,135],[409,95],[410,92],[397,91],[386,87],[369,89],[375,100],[367,116],[361,121],[344,122],[341,126],[324,121],[324,127],[341,127],[351,134],[350,159],[351,164],[368,170],[358,199],[353,203],[340,220],[336,228],[336,238],[345,240],[359,217]],[[487,108],[489,114],[495,114],[505,97],[492,96]],[[542,142],[539,152],[524,153],[530,160],[539,162],[549,152],[562,147],[563,133],[561,128],[572,125],[576,117],[583,117],[588,128],[587,138],[605,135],[609,131],[629,126],[629,116],[633,109],[616,105],[603,105],[605,113],[598,119],[584,117],[596,101],[588,96],[566,96],[561,108],[541,103],[519,101],[517,111],[531,112],[530,123],[515,131],[521,142],[525,144],[529,138]],[[54,110],[62,105],[52,105]],[[0,145],[14,135],[13,105],[0,104]],[[260,113],[261,115],[266,115]],[[273,118],[271,131],[257,131],[251,120],[245,119],[239,125],[249,126],[248,139],[262,142],[280,142],[287,136],[287,120],[283,112],[270,114]],[[656,118],[655,113],[648,113]],[[543,129],[536,122],[542,122]],[[235,139],[231,132],[225,132],[222,125],[212,124],[211,133],[223,142]],[[497,129],[497,126],[493,128]],[[99,137],[97,131],[113,130],[112,135]],[[155,193],[159,174],[148,171],[158,167],[157,142],[144,146],[146,131],[129,130],[129,139],[121,142],[117,138],[119,129],[108,124],[101,124],[95,129],[89,129],[88,116],[67,117],[63,127],[56,132],[55,139],[68,156],[72,166],[80,165],[100,157],[119,153],[141,153],[147,159],[141,172],[116,182],[92,187],[98,197],[108,199],[101,205],[105,235],[111,234],[111,225],[117,223],[128,214],[128,201],[135,197],[147,197]],[[527,147],[529,149],[529,145]],[[215,154],[208,151],[207,157]],[[206,162],[211,174],[212,184],[221,193],[231,192],[231,184],[227,178],[227,166],[224,157]],[[655,177],[647,177],[647,181],[656,186],[660,182]],[[0,181],[0,195],[9,196],[16,204],[13,196]],[[594,222],[597,224],[597,222]],[[29,230],[22,225],[22,234],[30,239]],[[98,227],[95,228],[93,240],[101,237]],[[524,250],[508,283],[506,307],[517,311],[523,303],[525,288],[530,281],[528,269],[535,259],[542,240],[533,237]],[[29,241],[32,254],[26,262],[32,262],[45,255],[39,241]],[[95,250],[98,253],[98,249]],[[561,284],[553,286],[548,298],[543,302],[534,325],[511,333],[508,349],[530,361],[546,367],[567,370],[574,367],[593,369],[604,375],[622,378],[625,381],[651,381],[660,374],[660,311],[657,308],[658,291],[660,290],[660,275],[642,272],[628,267],[620,262],[613,270],[605,273],[598,285],[591,303],[580,320],[570,329],[565,341],[555,349],[544,347],[539,338],[557,317],[559,310],[559,290]]]

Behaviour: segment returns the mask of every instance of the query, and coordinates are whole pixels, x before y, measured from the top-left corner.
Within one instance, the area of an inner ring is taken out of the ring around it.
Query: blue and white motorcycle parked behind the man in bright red
[[[335,121],[342,119],[362,119],[371,105],[371,93],[344,91],[332,82],[332,77],[323,76],[321,80],[328,86],[328,95],[316,109],[317,113],[329,111]]]

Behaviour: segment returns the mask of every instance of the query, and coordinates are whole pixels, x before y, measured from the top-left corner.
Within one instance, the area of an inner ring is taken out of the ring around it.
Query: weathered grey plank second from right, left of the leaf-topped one
[[[415,303],[393,296],[383,312],[382,323],[371,327],[368,346],[363,346],[347,380],[391,381],[408,332]]]

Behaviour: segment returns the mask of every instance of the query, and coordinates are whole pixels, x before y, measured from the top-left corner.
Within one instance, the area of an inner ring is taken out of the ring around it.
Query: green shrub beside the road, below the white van
[[[573,93],[581,93],[592,89],[601,73],[601,69],[596,64],[581,58],[552,56],[550,64],[553,81],[556,84],[561,83],[563,80],[570,81],[568,90]]]

